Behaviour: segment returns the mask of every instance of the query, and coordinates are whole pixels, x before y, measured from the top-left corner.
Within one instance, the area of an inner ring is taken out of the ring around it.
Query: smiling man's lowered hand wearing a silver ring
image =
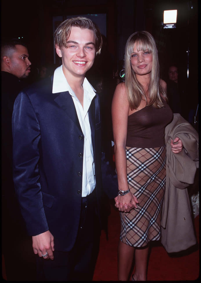
[[[32,247],[34,253],[39,255],[39,257],[42,257],[46,253],[48,253],[48,256],[43,257],[44,259],[53,260],[54,255],[53,251],[54,248],[54,237],[50,233],[50,231],[46,231],[44,233],[41,233],[36,236],[32,236]]]

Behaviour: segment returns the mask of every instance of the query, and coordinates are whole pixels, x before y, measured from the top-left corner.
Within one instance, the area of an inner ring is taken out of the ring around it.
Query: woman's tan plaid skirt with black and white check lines
[[[120,213],[120,240],[134,247],[160,240],[160,221],[166,180],[166,148],[126,147],[128,186],[139,204]]]

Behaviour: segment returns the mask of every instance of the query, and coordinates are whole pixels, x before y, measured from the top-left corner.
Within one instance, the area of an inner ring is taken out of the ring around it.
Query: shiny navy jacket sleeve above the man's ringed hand
[[[48,230],[39,174],[40,125],[25,92],[15,100],[12,115],[13,181],[28,234]]]

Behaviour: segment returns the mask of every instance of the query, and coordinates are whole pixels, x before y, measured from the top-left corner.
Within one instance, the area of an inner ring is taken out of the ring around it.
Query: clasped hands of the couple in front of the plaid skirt
[[[137,208],[137,203],[139,203],[137,197],[131,192],[124,196],[115,197],[115,207],[122,212],[130,212],[133,208]]]

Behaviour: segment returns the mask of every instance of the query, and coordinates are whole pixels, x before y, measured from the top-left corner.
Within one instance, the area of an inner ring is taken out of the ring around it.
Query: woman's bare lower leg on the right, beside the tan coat
[[[145,248],[135,249],[135,281],[146,281],[147,279],[147,260],[149,253],[149,245]]]

